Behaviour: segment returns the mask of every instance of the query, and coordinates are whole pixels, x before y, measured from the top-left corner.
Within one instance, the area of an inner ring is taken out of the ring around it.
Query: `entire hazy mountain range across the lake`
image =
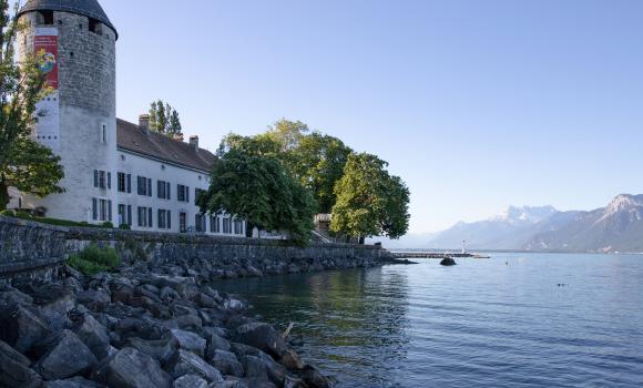
[[[400,243],[405,247],[459,249],[463,239],[471,251],[643,252],[643,195],[622,194],[590,212],[511,206],[486,221],[460,222],[443,232],[411,235]]]

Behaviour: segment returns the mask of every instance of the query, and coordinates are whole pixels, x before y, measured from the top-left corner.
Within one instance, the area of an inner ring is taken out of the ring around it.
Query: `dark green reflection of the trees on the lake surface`
[[[351,366],[351,386],[389,380],[407,357],[408,276],[382,268],[288,275],[217,283],[243,295],[265,320],[296,323],[304,357],[343,380]],[[307,351],[314,349],[314,351]]]

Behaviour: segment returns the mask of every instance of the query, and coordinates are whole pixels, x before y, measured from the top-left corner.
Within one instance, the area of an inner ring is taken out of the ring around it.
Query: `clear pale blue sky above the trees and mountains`
[[[214,150],[300,120],[390,163],[411,233],[643,193],[643,1],[102,0],[118,115]]]

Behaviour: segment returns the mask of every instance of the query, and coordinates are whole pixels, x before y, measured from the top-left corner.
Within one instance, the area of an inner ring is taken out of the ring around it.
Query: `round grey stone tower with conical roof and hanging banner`
[[[28,25],[19,58],[34,52],[53,89],[38,104],[43,115],[33,136],[61,156],[67,190],[23,203],[49,217],[109,221],[116,198],[116,29],[96,0],[29,0],[18,17]]]

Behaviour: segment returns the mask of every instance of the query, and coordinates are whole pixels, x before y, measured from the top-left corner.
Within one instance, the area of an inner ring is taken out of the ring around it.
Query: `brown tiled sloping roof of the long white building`
[[[118,145],[120,149],[160,159],[167,163],[208,173],[216,156],[207,150],[194,150],[188,143],[165,136],[159,132],[146,133],[139,125],[119,119],[116,121]]]

